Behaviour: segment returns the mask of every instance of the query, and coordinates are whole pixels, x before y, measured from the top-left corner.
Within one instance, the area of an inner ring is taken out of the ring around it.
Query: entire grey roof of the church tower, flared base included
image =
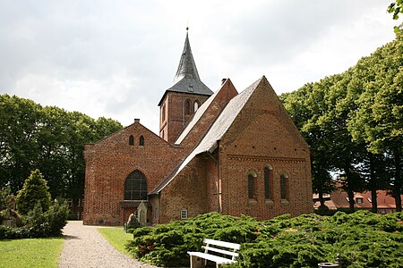
[[[174,78],[174,85],[164,93],[159,105],[162,104],[168,91],[182,92],[188,94],[206,95],[211,96],[213,92],[204,85],[200,80],[199,72],[196,68],[196,63],[194,63],[192,49],[189,42],[189,34],[186,28],[186,38],[184,39],[184,51],[182,52],[181,59],[179,61],[179,66],[177,67],[176,75]]]

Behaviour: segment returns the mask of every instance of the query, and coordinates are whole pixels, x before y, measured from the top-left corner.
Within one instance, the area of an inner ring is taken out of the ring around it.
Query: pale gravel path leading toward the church
[[[99,226],[87,226],[82,222],[68,222],[64,226],[65,237],[59,268],[75,267],[130,267],[158,268],[118,252],[97,230]]]

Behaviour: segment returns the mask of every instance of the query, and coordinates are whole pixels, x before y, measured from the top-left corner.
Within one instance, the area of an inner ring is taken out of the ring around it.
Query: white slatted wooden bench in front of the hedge
[[[236,263],[236,258],[239,255],[236,251],[239,250],[241,245],[213,239],[204,239],[203,242],[206,244],[206,246],[202,246],[204,252],[187,252],[190,255],[191,268],[204,267],[208,260],[216,263],[216,268],[220,268],[222,264]],[[228,251],[227,249],[232,249],[232,251]],[[210,252],[219,255],[213,255]],[[230,256],[230,258],[227,258],[227,256]]]

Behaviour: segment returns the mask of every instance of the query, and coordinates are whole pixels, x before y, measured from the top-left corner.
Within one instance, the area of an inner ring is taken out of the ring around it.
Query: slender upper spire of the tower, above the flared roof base
[[[184,40],[184,52],[182,52],[179,66],[177,67],[174,84],[184,79],[200,80],[199,73],[197,72],[196,63],[193,60],[192,49],[189,42],[189,27],[186,27],[186,39]]]

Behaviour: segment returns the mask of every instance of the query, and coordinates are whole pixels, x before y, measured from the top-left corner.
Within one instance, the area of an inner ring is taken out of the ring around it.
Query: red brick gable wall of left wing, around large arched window
[[[129,145],[133,135],[134,145]],[[139,146],[143,136],[144,146]],[[135,122],[94,145],[85,147],[84,224],[123,224],[119,202],[124,200],[124,181],[139,170],[147,178],[150,192],[184,157],[184,149]]]

